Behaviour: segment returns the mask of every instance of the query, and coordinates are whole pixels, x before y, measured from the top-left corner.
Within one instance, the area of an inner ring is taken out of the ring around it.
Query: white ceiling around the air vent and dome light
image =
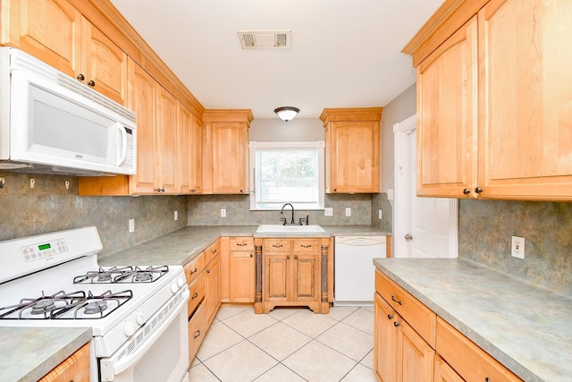
[[[400,53],[443,0],[111,0],[207,109],[385,106],[416,81]],[[292,30],[242,50],[238,30]]]

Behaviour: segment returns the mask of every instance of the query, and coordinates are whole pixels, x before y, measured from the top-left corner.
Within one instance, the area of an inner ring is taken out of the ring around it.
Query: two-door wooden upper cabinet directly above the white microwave
[[[67,0],[4,0],[2,44],[18,47],[124,105],[127,55]]]

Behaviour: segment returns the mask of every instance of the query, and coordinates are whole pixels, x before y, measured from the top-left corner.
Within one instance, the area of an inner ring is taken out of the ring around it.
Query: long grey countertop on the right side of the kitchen
[[[526,382],[572,381],[572,299],[464,259],[374,266]]]

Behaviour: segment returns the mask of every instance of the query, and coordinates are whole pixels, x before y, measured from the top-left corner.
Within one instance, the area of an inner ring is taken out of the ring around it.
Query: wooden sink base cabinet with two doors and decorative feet
[[[329,239],[257,239],[255,312],[277,306],[327,313]]]

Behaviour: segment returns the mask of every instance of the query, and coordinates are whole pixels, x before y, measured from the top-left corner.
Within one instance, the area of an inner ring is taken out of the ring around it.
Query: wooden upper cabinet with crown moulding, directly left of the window
[[[248,193],[250,110],[205,110],[203,193]]]

